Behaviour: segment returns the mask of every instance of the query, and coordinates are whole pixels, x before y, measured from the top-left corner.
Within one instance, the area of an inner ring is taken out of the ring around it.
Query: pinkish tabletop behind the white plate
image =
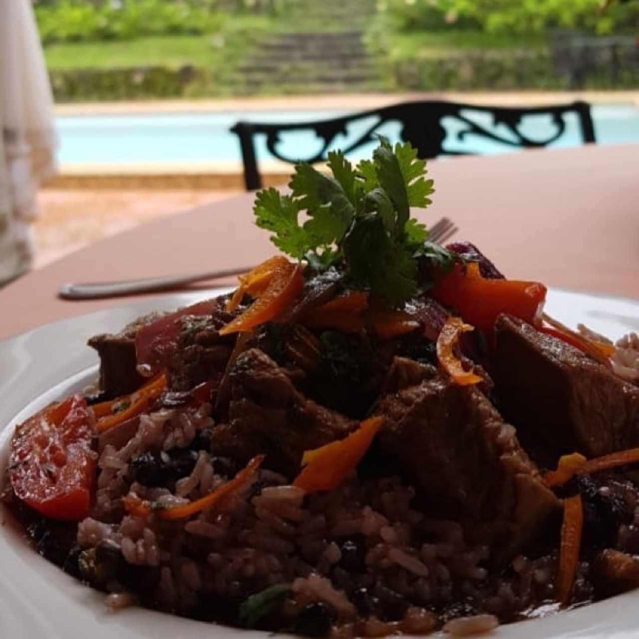
[[[639,145],[433,160],[433,205],[513,279],[639,297]],[[153,220],[29,273],[0,291],[0,339],[133,298],[66,302],[69,281],[117,280],[258,263],[273,254],[252,194]],[[229,281],[226,281],[229,283]],[[209,288],[206,284],[202,288]]]

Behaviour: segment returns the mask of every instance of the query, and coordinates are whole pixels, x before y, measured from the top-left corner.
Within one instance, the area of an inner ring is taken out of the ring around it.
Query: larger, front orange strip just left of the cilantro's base
[[[247,332],[260,324],[275,319],[285,311],[302,292],[304,277],[300,265],[286,262],[278,266],[263,293],[242,315],[220,329],[220,335]]]

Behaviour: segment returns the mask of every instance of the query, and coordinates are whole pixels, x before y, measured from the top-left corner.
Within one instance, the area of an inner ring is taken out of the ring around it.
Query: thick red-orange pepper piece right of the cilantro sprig
[[[476,263],[455,265],[436,279],[433,299],[459,312],[464,321],[481,330],[491,331],[501,313],[508,313],[539,324],[546,300],[546,287],[540,282],[488,279],[481,276]]]

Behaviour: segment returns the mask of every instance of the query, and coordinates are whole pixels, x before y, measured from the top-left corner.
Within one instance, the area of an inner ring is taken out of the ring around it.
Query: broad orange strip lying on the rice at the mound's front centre
[[[307,450],[302,458],[304,468],[293,486],[307,493],[337,488],[360,463],[383,421],[383,417],[371,417],[345,439]]]

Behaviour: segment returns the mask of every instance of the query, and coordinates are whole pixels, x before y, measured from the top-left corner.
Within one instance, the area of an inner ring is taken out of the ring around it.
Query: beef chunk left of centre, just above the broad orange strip
[[[238,357],[230,376],[229,423],[212,433],[216,455],[247,461],[266,453],[267,467],[292,476],[305,450],[342,439],[357,426],[306,399],[287,371],[256,348]]]

